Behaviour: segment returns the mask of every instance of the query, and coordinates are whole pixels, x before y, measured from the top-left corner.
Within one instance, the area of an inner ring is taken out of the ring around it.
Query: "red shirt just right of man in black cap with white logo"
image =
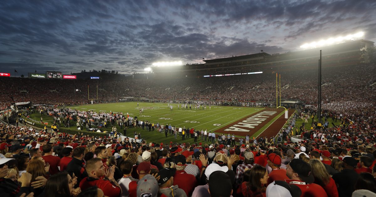
[[[192,174],[187,174],[184,170],[176,170],[173,185],[177,185],[185,191],[187,196],[191,196],[197,185],[197,180],[196,177]]]

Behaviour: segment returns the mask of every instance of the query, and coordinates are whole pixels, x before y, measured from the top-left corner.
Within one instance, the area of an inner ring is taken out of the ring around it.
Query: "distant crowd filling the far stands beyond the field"
[[[376,91],[374,65],[340,66],[323,69],[322,101],[324,109],[363,110],[374,106]],[[306,104],[317,102],[317,71],[281,72],[281,96]],[[276,94],[276,75],[270,73],[226,77],[161,78],[150,80],[39,80],[1,78],[0,108],[14,102],[32,101],[35,104],[72,105],[94,102],[116,102],[125,97],[147,98],[153,101],[187,102],[209,100],[265,102],[273,104]],[[46,83],[47,81],[47,83]],[[26,90],[27,92],[24,92]],[[77,90],[77,91],[76,91]]]

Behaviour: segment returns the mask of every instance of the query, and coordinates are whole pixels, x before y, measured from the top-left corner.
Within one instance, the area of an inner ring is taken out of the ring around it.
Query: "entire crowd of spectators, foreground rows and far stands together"
[[[240,145],[218,140],[194,144],[146,143],[145,140],[70,135],[0,124],[0,194],[4,197],[376,196],[375,92],[368,88],[373,71],[373,66],[349,67],[327,77],[324,75],[325,81],[330,80],[332,84],[323,86],[323,125],[313,120],[304,123],[311,124],[310,129],[295,125],[296,119],[316,115],[315,106],[308,105],[298,111],[290,121],[291,127],[285,129],[286,134],[276,141],[261,138]],[[282,91],[282,96],[302,96],[307,103],[313,102],[315,80],[309,75],[309,72],[301,72],[286,80],[282,86],[289,84],[289,87]],[[349,76],[341,80],[344,75]],[[124,91],[131,92],[126,93],[127,96],[151,97],[149,94],[153,93],[156,95],[151,98],[209,100],[227,99],[227,95],[230,95],[228,98],[257,100],[254,98],[259,93],[267,100],[268,96],[273,96],[275,86],[271,84],[272,77],[263,77],[249,78],[247,83],[243,76],[230,77],[222,83],[218,83],[217,78],[202,79],[207,80],[205,84],[198,80],[200,84],[192,82],[187,90],[186,84],[170,85],[170,90],[165,90],[158,81],[106,81],[103,82],[107,85],[103,101],[115,101],[124,96]],[[8,85],[0,83],[13,93],[9,94],[11,98],[1,95],[4,106],[26,99],[50,105],[85,103],[85,98],[77,92],[79,99],[73,100],[74,92],[68,93],[65,88],[74,85],[84,89],[87,84],[13,80],[19,83],[15,85],[3,79]],[[46,87],[38,93],[38,85]],[[21,89],[29,93],[20,93]],[[50,92],[50,89],[58,92]],[[51,96],[53,94],[61,97]],[[63,116],[76,113],[85,121],[108,118],[105,113],[66,108],[44,108],[44,111]],[[340,125],[327,124],[330,118],[338,118]],[[294,142],[291,139],[294,135],[302,139]]]

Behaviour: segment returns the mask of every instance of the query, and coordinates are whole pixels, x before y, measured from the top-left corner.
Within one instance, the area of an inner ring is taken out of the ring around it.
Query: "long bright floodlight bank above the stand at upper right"
[[[364,36],[364,32],[358,32],[355,34],[349,34],[347,36],[339,36],[337,38],[329,38],[326,40],[320,40],[318,42],[311,42],[311,43],[306,43],[300,46],[300,48],[303,49],[309,49],[309,48],[316,48],[316,47],[324,47],[332,44],[339,44],[345,41],[353,41],[355,39],[362,38]]]

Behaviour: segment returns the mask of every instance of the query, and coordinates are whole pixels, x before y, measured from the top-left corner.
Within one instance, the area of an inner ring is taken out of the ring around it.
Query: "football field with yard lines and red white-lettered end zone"
[[[92,104],[92,105],[79,105],[70,106],[68,108],[77,109],[81,111],[93,110],[96,112],[114,112],[123,114],[129,114],[129,116],[137,116],[138,120],[149,121],[154,124],[157,122],[161,125],[170,125],[175,127],[195,128],[196,130],[207,129],[217,134],[234,134],[237,138],[243,138],[245,142],[245,136],[248,134],[250,139],[259,136],[265,129],[275,122],[276,119],[281,117],[284,112],[282,110],[271,108],[258,108],[258,107],[233,107],[233,106],[206,106],[206,110],[203,110],[202,106],[199,109],[193,109],[189,107],[179,108],[177,104],[171,104],[173,109],[171,110],[167,103],[148,103],[148,102],[118,102],[108,104]],[[140,109],[143,108],[143,113],[140,114]],[[282,125],[283,126],[283,125]],[[280,126],[280,128],[282,128]],[[111,125],[108,125],[106,129],[111,131]],[[118,127],[118,126],[117,126]],[[273,135],[276,135],[279,129],[273,131]],[[122,133],[122,129],[118,127],[118,131]],[[149,141],[155,142],[183,142],[182,137],[177,136],[177,139],[173,135],[168,135],[166,138],[164,133],[159,132],[147,132],[146,129],[132,128],[127,129],[127,136],[134,137],[133,133],[141,133],[142,138],[146,138]],[[218,135],[217,135],[218,136]],[[271,135],[270,135],[271,136]],[[201,139],[201,137],[199,137]],[[184,142],[193,142],[193,139],[186,138]],[[200,141],[200,140],[199,140]],[[238,141],[238,139],[237,139]]]

